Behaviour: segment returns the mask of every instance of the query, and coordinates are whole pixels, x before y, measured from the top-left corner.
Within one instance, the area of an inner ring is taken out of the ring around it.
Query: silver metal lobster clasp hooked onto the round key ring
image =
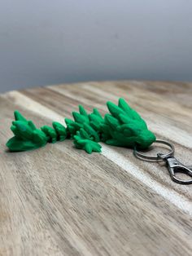
[[[192,170],[189,167],[181,164],[175,157],[163,157],[160,156],[160,154],[159,157],[162,157],[162,159],[167,162],[169,174],[174,182],[180,184],[192,184]],[[189,175],[191,179],[179,179],[176,176],[177,173]]]

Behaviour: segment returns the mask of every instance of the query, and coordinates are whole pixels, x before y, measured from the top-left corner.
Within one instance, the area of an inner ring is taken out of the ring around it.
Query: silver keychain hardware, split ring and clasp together
[[[177,161],[177,159],[174,157],[175,148],[172,145],[172,143],[168,143],[168,141],[162,140],[162,139],[156,139],[155,143],[163,143],[167,145],[170,148],[170,151],[166,154],[163,154],[161,152],[157,153],[156,156],[148,156],[146,154],[143,154],[142,152],[137,151],[137,146],[134,147],[134,155],[140,160],[144,161],[165,161],[168,166],[168,171],[171,176],[171,179],[180,184],[192,184],[192,179],[179,179],[177,178],[177,173],[183,173],[186,175],[189,175],[192,178],[192,170],[181,164],[180,161]]]

